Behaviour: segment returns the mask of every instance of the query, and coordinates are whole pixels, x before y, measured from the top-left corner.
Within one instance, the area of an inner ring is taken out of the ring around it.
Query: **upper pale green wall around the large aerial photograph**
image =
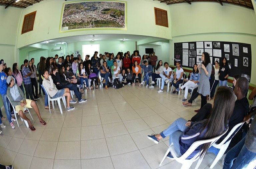
[[[18,26],[17,48],[37,42],[86,34],[133,34],[171,39],[171,22],[169,28],[155,25],[154,7],[169,11],[169,6],[152,0],[127,1],[127,30],[87,30],[59,33],[63,0],[47,0],[29,6],[22,11]],[[68,2],[72,2],[69,0]],[[24,15],[37,11],[34,30],[21,35]],[[168,13],[170,18],[170,13]],[[148,29],[150,28],[150,29]],[[49,29],[49,33],[48,33]]]

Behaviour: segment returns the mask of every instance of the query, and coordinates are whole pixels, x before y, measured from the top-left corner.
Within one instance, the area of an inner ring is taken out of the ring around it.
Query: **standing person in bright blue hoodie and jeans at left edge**
[[[4,60],[1,59],[0,60],[0,94],[2,96],[2,100],[4,102],[4,108],[5,108],[5,112],[7,115],[7,118],[12,126],[12,128],[15,128],[13,121],[16,121],[14,118],[12,118],[11,115],[11,111],[10,111],[10,102],[9,99],[7,98],[6,92],[7,92],[7,83],[6,83],[6,79],[7,76],[6,74],[3,72],[3,68],[4,68]],[[5,127],[5,125],[2,123],[2,120],[0,120],[0,125],[1,127]],[[1,133],[1,132],[0,132]]]

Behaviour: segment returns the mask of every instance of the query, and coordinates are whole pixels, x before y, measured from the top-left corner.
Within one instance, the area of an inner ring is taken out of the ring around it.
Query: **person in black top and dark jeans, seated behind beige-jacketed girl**
[[[78,98],[79,103],[87,101],[86,99],[82,99],[81,93],[79,93],[79,91],[77,90],[77,87],[82,88],[83,85],[75,85],[66,81],[65,77],[60,76],[59,70],[57,67],[52,68],[52,80],[53,80],[53,83],[56,85],[57,89],[59,90],[62,88],[69,88],[69,90],[73,90],[75,92],[76,97]]]

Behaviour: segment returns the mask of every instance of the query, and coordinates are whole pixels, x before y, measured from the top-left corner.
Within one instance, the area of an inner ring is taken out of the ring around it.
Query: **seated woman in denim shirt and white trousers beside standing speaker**
[[[184,85],[182,85],[179,88],[176,88],[176,91],[182,90],[185,88],[185,94],[184,99],[182,101],[186,101],[188,97],[188,89],[189,88],[196,88],[199,85],[199,79],[200,79],[200,73],[197,68],[197,64],[194,65],[193,72],[191,73],[191,76],[189,78],[189,81],[187,81]]]

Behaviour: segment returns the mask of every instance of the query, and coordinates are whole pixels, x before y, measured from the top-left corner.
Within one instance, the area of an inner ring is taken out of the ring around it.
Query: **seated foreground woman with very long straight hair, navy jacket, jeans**
[[[183,155],[195,141],[210,139],[222,134],[228,127],[228,119],[233,113],[234,105],[234,92],[229,87],[219,87],[208,119],[191,122],[184,118],[178,118],[163,132],[149,135],[148,138],[158,143],[161,138],[169,135],[169,143],[173,143],[176,152]],[[201,150],[202,153],[205,153],[209,147],[210,143],[197,147],[187,159],[193,158]],[[171,153],[167,157],[173,159]]]

